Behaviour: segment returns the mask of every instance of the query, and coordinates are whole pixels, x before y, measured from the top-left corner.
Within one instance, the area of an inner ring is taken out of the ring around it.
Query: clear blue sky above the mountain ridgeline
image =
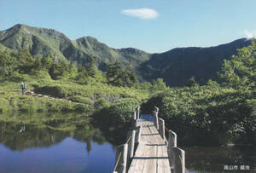
[[[154,53],[255,37],[255,9],[256,0],[0,0],[0,30],[22,23]]]

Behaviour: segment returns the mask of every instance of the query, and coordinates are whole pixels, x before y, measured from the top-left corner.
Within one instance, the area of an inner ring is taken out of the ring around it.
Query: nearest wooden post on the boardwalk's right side
[[[185,173],[185,152],[178,148],[172,147],[175,155],[174,173]]]

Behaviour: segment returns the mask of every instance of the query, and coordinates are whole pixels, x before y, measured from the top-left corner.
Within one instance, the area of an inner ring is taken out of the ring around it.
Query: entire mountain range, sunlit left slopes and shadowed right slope
[[[133,48],[113,49],[94,37],[71,40],[53,29],[21,24],[0,31],[0,50],[27,49],[35,57],[52,55],[84,66],[93,57],[102,71],[106,70],[108,63],[119,60],[130,63],[139,79],[151,81],[164,78],[166,84],[171,86],[183,86],[192,76],[197,78],[199,84],[205,84],[210,78],[218,80],[217,72],[224,59],[229,60],[231,55],[236,54],[236,49],[249,43],[246,38],[241,38],[216,47],[177,48],[161,54],[148,54]]]

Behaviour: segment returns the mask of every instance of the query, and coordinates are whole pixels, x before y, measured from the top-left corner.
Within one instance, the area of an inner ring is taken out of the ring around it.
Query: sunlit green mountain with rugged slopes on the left
[[[135,68],[148,61],[149,54],[138,49],[112,49],[100,43],[94,37],[81,37],[71,40],[61,32],[53,29],[38,28],[26,25],[15,25],[0,32],[0,50],[26,49],[33,56],[55,56],[57,59],[75,61],[84,66],[90,56],[96,61],[99,69],[104,70],[109,62],[116,60],[129,62]]]

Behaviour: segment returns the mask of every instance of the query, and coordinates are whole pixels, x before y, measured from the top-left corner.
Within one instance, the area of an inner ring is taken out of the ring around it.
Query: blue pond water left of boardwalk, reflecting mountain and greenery
[[[0,114],[0,172],[111,172],[115,149],[80,114]]]

